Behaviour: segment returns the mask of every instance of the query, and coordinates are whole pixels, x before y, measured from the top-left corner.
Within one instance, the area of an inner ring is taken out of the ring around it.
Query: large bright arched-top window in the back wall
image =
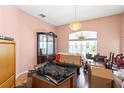
[[[80,31],[69,34],[69,53],[82,54],[97,53],[97,32]]]

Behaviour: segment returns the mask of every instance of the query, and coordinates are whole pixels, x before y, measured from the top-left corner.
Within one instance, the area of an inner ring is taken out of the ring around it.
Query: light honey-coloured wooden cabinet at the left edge
[[[0,40],[0,87],[15,87],[15,42]]]

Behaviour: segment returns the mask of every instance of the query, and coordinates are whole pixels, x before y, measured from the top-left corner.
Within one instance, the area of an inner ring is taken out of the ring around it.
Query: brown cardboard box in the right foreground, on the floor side
[[[112,71],[105,68],[93,67],[91,69],[91,88],[112,88]]]

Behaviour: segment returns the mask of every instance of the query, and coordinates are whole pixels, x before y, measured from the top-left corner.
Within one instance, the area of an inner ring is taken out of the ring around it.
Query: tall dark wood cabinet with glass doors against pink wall
[[[57,35],[53,32],[37,33],[37,63],[52,61],[55,59],[55,38]]]

